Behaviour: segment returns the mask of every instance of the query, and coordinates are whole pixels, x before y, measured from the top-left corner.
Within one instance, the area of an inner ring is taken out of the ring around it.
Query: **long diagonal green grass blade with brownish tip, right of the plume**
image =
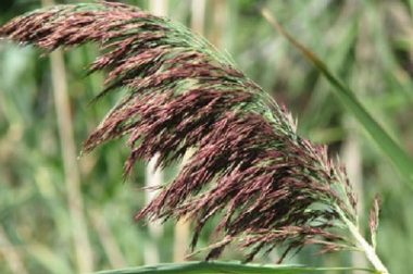
[[[349,110],[358,122],[365,128],[375,144],[392,161],[399,173],[405,178],[404,182],[413,187],[413,159],[402,149],[376,122],[376,120],[365,110],[363,104],[356,99],[354,92],[336,77],[327,67],[327,65],[305,48],[297,39],[295,39],[270,13],[268,10],[262,10],[263,16],[270,24],[287,38],[335,87],[333,90],[342,104]]]

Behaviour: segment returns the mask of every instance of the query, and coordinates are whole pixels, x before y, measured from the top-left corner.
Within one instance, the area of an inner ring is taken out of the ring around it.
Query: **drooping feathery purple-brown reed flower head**
[[[159,154],[164,167],[193,152],[173,183],[136,216],[195,223],[192,247],[205,223],[221,216],[223,240],[249,250],[306,244],[322,251],[352,246],[341,231],[355,222],[347,176],[326,148],[300,138],[289,114],[229,59],[185,27],[118,3],[57,5],[17,17],[0,36],[47,51],[95,41],[101,55],[90,73],[108,71],[104,96],[127,87],[123,100],[85,142],[85,150],[128,136],[138,159]],[[284,256],[281,257],[281,259]]]

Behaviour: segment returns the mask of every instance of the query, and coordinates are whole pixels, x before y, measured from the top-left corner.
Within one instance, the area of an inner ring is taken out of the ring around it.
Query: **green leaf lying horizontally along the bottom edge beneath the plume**
[[[337,271],[349,273],[349,271],[360,270],[370,273],[375,273],[368,269],[354,267],[308,267],[302,265],[283,265],[283,264],[241,264],[238,262],[185,262],[185,263],[164,263],[152,266],[140,266],[127,270],[112,270],[99,272],[99,274],[186,274],[186,273],[202,273],[202,274],[296,274],[296,273],[324,273],[327,271]]]

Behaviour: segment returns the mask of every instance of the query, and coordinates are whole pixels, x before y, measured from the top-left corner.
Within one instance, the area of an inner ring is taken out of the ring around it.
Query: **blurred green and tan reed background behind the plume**
[[[0,24],[52,1],[1,0]],[[61,3],[78,1],[67,0]],[[355,92],[387,132],[413,154],[412,0],[130,0],[166,14],[231,54],[238,66],[298,119],[299,132],[340,155],[359,195],[361,224],[379,194],[378,253],[391,273],[413,270],[413,190],[333,96],[331,87],[260,14],[266,7]],[[97,55],[88,45],[41,58],[0,41],[0,273],[79,273],[182,261],[190,225],[142,224],[153,174],[140,162],[123,182],[128,150],[115,141],[77,159],[82,141],[116,101],[89,105],[103,75],[86,77]],[[413,166],[412,166],[413,169]],[[213,224],[200,247],[208,244]],[[360,254],[317,256],[305,248],[288,263],[367,265]],[[192,259],[202,259],[203,254]],[[241,259],[236,247],[224,260]],[[274,262],[277,252],[258,258]]]

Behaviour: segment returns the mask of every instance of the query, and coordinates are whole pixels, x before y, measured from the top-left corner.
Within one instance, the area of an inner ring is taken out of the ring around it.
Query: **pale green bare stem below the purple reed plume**
[[[348,219],[341,209],[337,205],[337,212],[340,214],[341,220],[345,222],[349,232],[355,239],[359,248],[365,253],[368,261],[373,264],[375,270],[380,274],[389,274],[389,271],[383,264],[381,260],[376,254],[376,250],[364,239],[364,237],[360,234],[359,228]]]

